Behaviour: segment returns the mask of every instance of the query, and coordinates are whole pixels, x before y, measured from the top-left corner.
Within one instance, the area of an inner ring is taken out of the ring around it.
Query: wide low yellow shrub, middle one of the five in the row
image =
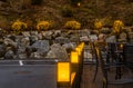
[[[66,23],[64,25],[65,28],[68,29],[80,29],[81,28],[81,23],[78,21],[66,21]]]

